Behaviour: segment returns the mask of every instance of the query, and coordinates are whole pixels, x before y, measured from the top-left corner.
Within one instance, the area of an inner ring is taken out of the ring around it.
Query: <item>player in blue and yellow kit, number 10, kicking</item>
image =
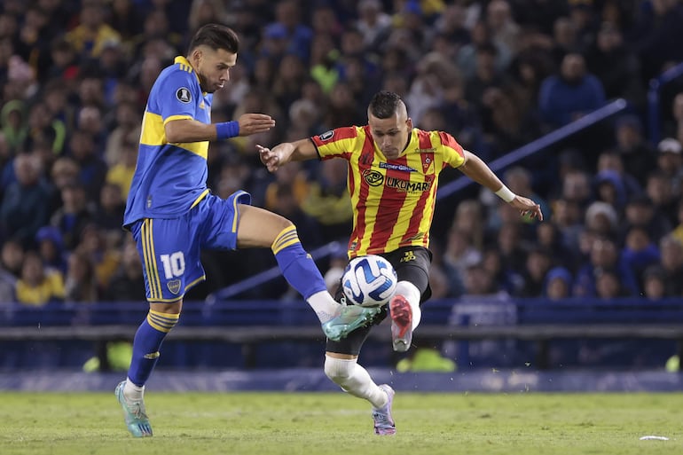
[[[145,383],[164,337],[180,318],[185,291],[205,278],[201,248],[271,247],[283,275],[316,311],[323,332],[332,339],[364,326],[378,312],[334,301],[289,220],[251,207],[247,192],[223,200],[209,191],[209,141],[247,136],[275,125],[266,114],[211,123],[212,94],[230,80],[238,49],[232,29],[201,27],[187,56],[177,57],[161,72],[145,107],[123,225],[137,242],[149,312],[133,341],[128,377],[115,390],[126,426],[137,437],[152,435]]]

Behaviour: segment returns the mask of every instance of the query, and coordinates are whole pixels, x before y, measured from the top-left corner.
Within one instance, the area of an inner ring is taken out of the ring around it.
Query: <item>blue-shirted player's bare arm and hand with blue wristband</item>
[[[181,119],[164,125],[166,140],[170,144],[215,141],[236,136],[268,131],[275,121],[266,114],[242,114],[239,120],[223,123],[202,123],[192,119]]]

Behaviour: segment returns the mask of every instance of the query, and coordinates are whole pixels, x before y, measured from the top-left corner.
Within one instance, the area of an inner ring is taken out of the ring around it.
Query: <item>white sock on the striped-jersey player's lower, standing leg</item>
[[[370,373],[358,365],[357,360],[325,356],[325,374],[345,392],[358,398],[365,398],[375,408],[381,408],[387,404],[389,396],[377,387]]]

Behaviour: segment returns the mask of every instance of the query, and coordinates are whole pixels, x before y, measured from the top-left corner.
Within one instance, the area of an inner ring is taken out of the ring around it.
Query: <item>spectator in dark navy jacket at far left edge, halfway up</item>
[[[50,217],[51,192],[41,178],[42,166],[35,154],[22,153],[14,159],[17,181],[4,192],[0,204],[0,237],[20,239],[32,247],[35,233]]]

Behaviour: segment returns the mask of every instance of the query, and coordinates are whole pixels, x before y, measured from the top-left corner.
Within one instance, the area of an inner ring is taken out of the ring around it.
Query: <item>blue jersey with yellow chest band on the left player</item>
[[[180,216],[206,196],[208,141],[169,144],[164,125],[182,119],[210,123],[212,98],[202,93],[184,57],[161,71],[145,107],[124,226],[142,218]]]

